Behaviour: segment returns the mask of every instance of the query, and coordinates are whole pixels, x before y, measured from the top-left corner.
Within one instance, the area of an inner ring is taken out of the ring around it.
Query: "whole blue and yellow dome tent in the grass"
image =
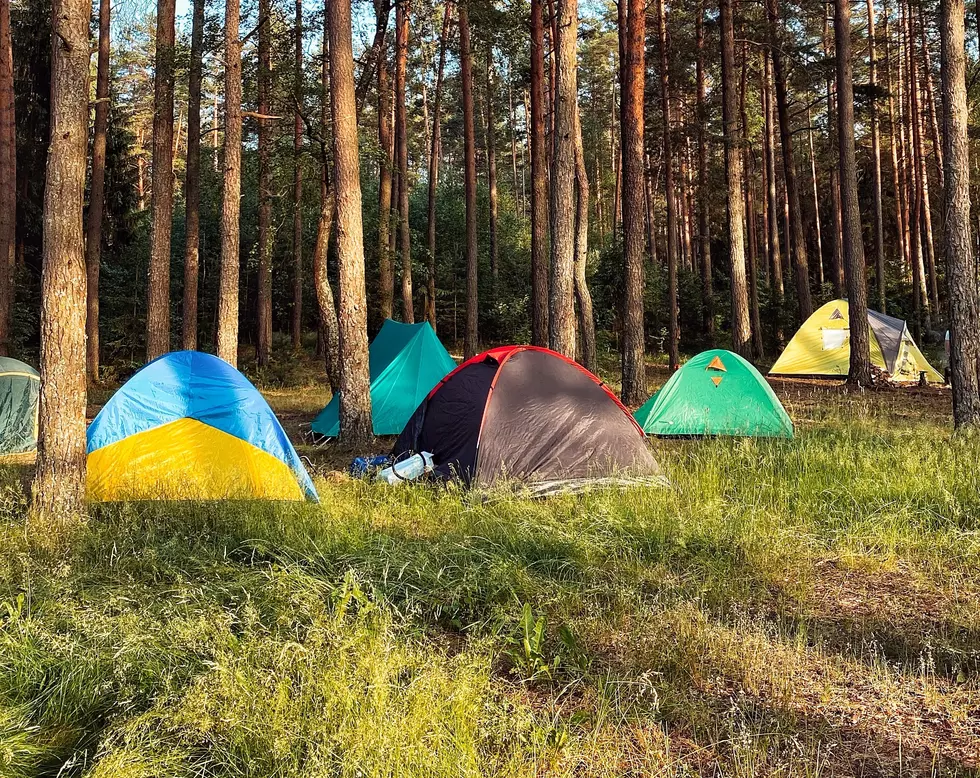
[[[197,351],[154,360],[88,428],[88,497],[317,500],[268,403],[227,362]]]

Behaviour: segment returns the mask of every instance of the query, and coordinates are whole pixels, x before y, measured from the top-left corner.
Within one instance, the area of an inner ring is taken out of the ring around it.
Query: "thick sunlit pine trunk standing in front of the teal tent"
[[[327,0],[326,7],[340,267],[340,437],[350,445],[365,445],[374,438],[374,426],[350,0]]]

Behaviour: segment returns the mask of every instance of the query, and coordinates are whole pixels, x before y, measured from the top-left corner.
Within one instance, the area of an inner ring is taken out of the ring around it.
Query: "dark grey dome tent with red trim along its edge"
[[[643,431],[596,376],[548,349],[505,346],[464,362],[415,411],[394,455],[428,451],[467,486],[659,476]]]

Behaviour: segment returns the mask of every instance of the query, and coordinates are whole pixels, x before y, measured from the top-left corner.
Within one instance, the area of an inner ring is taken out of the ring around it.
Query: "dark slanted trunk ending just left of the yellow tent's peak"
[[[767,0],[769,13],[770,46],[772,48],[772,74],[776,85],[776,112],[779,115],[779,141],[783,150],[783,177],[786,181],[786,200],[789,204],[789,231],[786,240],[796,280],[796,304],[801,321],[813,313],[810,296],[810,268],[806,258],[806,234],[803,232],[803,206],[796,180],[796,160],[793,155],[793,130],[790,127],[789,97],[786,90],[786,74],[783,69],[782,22],[779,18],[778,0]]]

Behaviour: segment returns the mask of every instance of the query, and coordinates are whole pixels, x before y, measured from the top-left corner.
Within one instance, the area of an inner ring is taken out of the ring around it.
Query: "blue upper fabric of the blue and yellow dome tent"
[[[178,419],[195,419],[271,454],[289,465],[307,497],[318,499],[265,398],[223,359],[199,351],[165,354],[127,381],[89,425],[88,453]]]

